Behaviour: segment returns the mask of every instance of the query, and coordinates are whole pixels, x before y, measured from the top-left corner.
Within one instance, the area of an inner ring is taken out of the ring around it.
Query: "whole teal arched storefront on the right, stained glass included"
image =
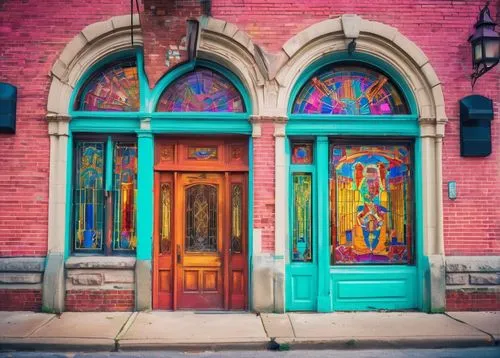
[[[291,92],[287,311],[423,308],[421,142],[403,77],[333,53]]]

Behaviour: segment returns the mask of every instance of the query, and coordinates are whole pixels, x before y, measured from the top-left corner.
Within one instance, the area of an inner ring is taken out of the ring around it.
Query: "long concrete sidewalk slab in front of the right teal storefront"
[[[442,314],[328,313],[289,314],[294,339],[290,344],[328,344],[332,347],[447,347],[491,345],[491,337]]]

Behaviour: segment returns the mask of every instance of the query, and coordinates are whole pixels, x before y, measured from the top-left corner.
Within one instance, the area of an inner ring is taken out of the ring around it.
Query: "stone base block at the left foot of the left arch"
[[[49,253],[45,265],[42,289],[42,311],[61,313],[64,311],[64,254]]]

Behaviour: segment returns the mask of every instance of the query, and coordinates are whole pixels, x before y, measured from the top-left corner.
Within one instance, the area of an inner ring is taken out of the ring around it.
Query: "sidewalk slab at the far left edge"
[[[0,312],[0,338],[27,337],[54,317],[49,313]]]

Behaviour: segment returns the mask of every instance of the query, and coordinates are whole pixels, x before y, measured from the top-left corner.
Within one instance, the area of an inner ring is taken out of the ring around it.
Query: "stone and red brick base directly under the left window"
[[[133,257],[70,257],[65,311],[134,311]]]

